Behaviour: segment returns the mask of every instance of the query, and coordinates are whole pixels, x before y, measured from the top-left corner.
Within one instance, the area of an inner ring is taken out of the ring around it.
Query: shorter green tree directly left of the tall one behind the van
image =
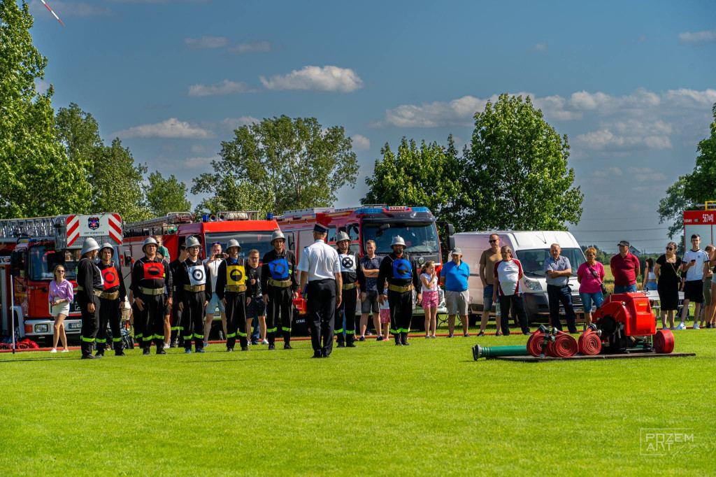
[[[389,144],[380,150],[373,175],[365,179],[369,190],[362,203],[424,206],[441,221],[457,223],[469,204],[463,188],[465,170],[458,158],[453,135],[448,146],[402,138],[397,155]]]

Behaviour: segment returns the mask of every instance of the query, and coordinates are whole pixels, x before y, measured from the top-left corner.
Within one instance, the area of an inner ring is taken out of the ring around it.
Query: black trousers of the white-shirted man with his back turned
[[[311,344],[314,352],[330,356],[333,351],[334,322],[337,319],[336,281],[309,281],[306,294],[308,294]]]

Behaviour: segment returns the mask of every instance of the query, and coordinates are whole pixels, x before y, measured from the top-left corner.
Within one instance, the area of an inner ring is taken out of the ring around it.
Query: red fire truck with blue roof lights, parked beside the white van
[[[376,244],[376,255],[390,254],[393,237],[400,235],[407,245],[405,251],[415,257],[418,265],[429,260],[435,261],[438,273],[442,267],[435,216],[427,207],[389,207],[379,204],[349,208],[304,208],[285,211],[277,220],[286,235],[289,249],[296,253],[296,260],[301,259],[305,247],[313,244],[313,227],[317,222],[329,228],[327,244],[335,245],[337,233],[344,231],[351,238],[349,249],[361,257],[365,254],[364,244],[369,240]],[[437,312],[447,313],[442,289]],[[414,313],[424,314],[417,302]],[[357,314],[360,314],[360,307],[357,307]]]

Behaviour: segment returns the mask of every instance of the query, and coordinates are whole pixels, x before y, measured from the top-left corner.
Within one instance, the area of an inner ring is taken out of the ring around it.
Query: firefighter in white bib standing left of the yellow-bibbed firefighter
[[[181,312],[180,333],[184,339],[184,352],[191,352],[191,339],[195,350],[204,350],[204,314],[211,297],[211,274],[199,258],[201,244],[196,237],[186,241],[188,257],[177,269],[176,291]],[[193,328],[193,331],[192,331]]]

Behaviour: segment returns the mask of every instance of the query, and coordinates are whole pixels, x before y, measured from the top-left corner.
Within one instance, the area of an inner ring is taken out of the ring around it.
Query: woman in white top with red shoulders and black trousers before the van
[[[495,276],[493,302],[497,301],[499,294],[501,312],[501,316],[498,315],[497,317],[497,333],[495,336],[501,335],[500,329],[502,329],[505,336],[509,336],[510,307],[515,310],[520,320],[522,334],[530,334],[529,323],[527,321],[527,314],[525,312],[524,303],[522,302],[520,289],[522,264],[518,259],[513,259],[512,249],[506,245],[500,249],[500,256],[502,256],[502,260],[495,264],[495,269],[493,270],[493,275]]]

